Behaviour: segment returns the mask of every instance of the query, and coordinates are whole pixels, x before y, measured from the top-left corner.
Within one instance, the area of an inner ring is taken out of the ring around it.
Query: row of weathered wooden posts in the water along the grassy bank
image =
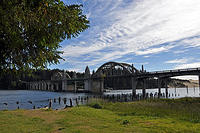
[[[199,94],[200,95],[200,94]],[[155,98],[170,98],[170,97],[176,97],[180,96],[179,94],[165,94],[161,93],[160,96],[158,93],[146,93],[145,95],[137,94],[136,97],[133,97],[132,94],[117,94],[117,95],[93,95],[93,96],[78,96],[77,98],[53,98],[48,99],[48,105],[44,106],[43,108],[53,108],[54,103],[58,103],[59,105],[64,104],[64,108],[73,107],[73,106],[79,106],[80,104],[88,104],[91,99],[102,99],[112,102],[128,102],[128,101],[138,101],[142,99],[155,99]],[[69,104],[67,104],[67,101],[69,101]],[[32,101],[28,101],[28,103],[33,105]],[[4,105],[8,106],[8,103],[3,103]],[[16,102],[17,109],[20,108],[19,101]],[[39,107],[36,107],[33,105],[33,109],[36,109]]]

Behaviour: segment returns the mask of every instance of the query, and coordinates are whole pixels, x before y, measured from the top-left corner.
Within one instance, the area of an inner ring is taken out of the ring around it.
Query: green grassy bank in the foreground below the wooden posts
[[[200,98],[92,102],[65,110],[0,111],[1,133],[200,131]]]

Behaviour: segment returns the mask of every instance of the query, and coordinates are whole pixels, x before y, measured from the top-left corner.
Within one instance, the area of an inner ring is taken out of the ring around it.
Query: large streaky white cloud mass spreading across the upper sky
[[[83,55],[91,59],[83,65],[95,65],[130,53],[147,55],[175,45],[200,46],[200,37],[187,39],[200,35],[199,0],[87,0],[83,4],[91,20],[88,34],[75,46],[63,48],[63,56],[74,64],[84,61]],[[160,46],[169,42],[174,43]],[[106,49],[113,51],[102,52]]]

